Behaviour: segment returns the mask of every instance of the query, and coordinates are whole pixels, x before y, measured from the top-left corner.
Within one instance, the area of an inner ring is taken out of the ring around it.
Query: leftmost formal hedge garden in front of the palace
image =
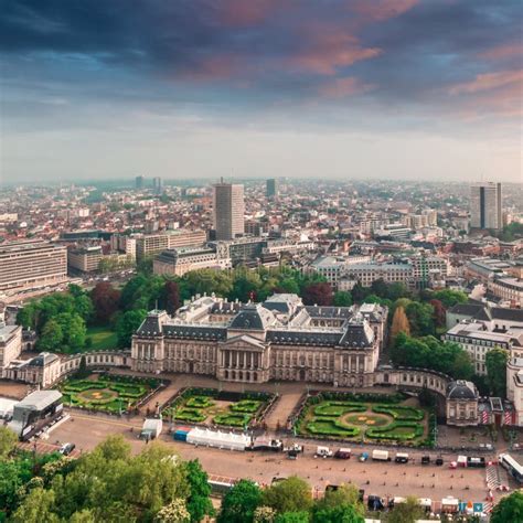
[[[60,385],[64,405],[70,407],[121,414],[137,407],[160,386],[160,380],[90,374],[86,378],[68,378]]]

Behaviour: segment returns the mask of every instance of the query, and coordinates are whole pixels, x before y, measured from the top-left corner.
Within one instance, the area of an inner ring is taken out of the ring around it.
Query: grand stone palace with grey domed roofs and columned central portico
[[[386,318],[386,307],[374,303],[305,306],[286,293],[239,303],[204,296],[173,317],[151,311],[132,337],[131,369],[371,386]]]

